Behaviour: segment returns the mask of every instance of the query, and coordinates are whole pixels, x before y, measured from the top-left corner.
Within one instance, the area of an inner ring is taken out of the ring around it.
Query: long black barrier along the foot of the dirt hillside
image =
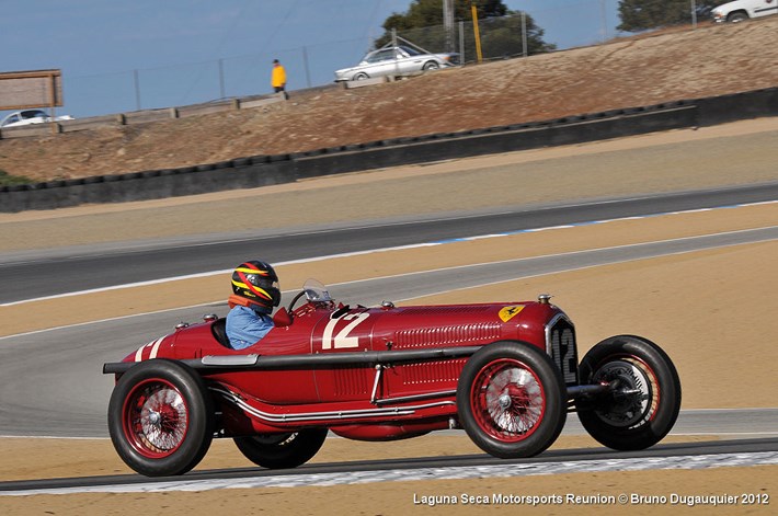
[[[778,88],[770,88],[546,122],[394,138],[293,154],[252,156],[180,169],[3,186],[0,187],[0,211],[15,213],[84,203],[145,200],[253,188],[344,172],[582,144],[776,115]]]

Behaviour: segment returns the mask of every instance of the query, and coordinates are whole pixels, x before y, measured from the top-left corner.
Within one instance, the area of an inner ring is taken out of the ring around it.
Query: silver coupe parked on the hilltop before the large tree
[[[426,54],[410,46],[379,48],[368,53],[357,66],[335,71],[335,82],[404,76],[458,64],[459,54]]]

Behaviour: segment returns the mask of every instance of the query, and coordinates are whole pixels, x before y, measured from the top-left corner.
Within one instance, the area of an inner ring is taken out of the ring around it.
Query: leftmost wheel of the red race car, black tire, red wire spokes
[[[153,359],[122,375],[108,403],[108,433],[122,460],[147,477],[183,474],[214,437],[214,402],[203,379]]]

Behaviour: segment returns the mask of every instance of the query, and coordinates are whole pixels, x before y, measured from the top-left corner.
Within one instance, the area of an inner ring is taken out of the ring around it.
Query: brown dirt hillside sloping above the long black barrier
[[[445,70],[267,107],[0,140],[36,181],[176,168],[778,85],[778,16]]]

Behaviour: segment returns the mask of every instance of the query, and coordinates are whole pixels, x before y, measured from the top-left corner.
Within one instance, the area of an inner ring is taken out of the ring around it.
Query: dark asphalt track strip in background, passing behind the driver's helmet
[[[778,182],[645,197],[549,205],[422,220],[373,221],[297,232],[203,237],[175,243],[112,244],[0,254],[0,305],[70,291],[229,270],[236,256],[271,263],[467,238],[778,199]],[[45,274],[41,274],[45,271]]]

